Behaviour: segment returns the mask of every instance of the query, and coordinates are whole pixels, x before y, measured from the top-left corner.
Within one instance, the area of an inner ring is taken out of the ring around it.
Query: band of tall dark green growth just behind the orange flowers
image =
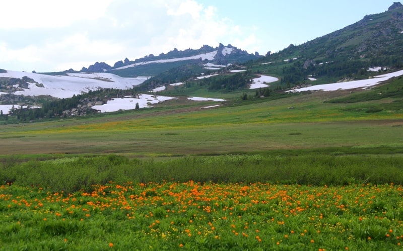
[[[403,184],[402,156],[301,156],[220,155],[186,156],[154,161],[118,155],[31,160],[3,164],[2,183],[37,186],[53,191],[90,191],[93,185],[187,182],[299,185]]]

